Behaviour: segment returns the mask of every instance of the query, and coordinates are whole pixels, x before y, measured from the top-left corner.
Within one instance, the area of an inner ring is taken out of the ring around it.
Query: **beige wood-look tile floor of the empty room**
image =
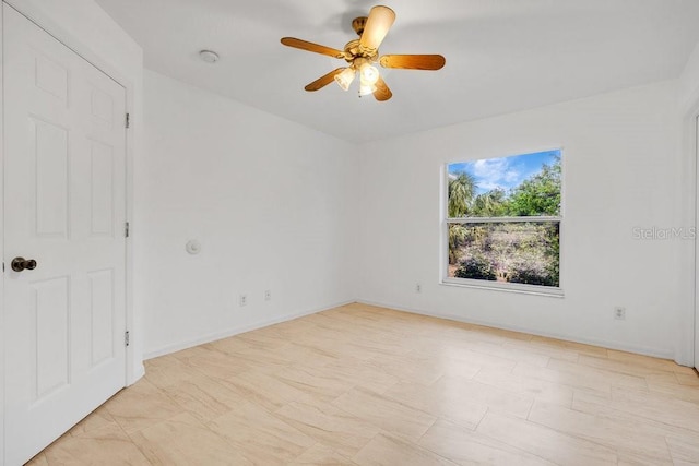
[[[389,309],[145,366],[31,464],[699,464],[694,370]]]

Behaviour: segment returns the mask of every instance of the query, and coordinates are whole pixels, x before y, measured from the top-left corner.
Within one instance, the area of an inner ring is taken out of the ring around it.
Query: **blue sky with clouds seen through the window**
[[[449,174],[459,175],[465,171],[471,175],[478,187],[476,194],[483,194],[496,188],[509,191],[541,171],[544,164],[553,164],[556,157],[560,157],[560,150],[460,162],[449,164]]]

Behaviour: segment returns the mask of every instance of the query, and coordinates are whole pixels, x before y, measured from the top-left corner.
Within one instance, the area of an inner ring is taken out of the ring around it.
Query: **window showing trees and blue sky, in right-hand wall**
[[[445,283],[560,291],[561,151],[447,165]]]

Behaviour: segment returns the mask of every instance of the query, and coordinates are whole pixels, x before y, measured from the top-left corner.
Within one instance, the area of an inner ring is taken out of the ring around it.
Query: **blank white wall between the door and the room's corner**
[[[134,238],[146,356],[355,297],[351,144],[150,71],[145,119]]]

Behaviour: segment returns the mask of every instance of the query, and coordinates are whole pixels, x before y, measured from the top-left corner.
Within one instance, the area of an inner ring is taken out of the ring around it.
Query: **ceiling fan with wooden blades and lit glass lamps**
[[[379,62],[383,68],[401,68],[404,70],[439,70],[445,65],[441,55],[384,55],[379,58],[379,46],[395,21],[395,13],[388,7],[377,5],[369,16],[355,17],[352,27],[359,35],[351,40],[344,50],[321,46],[294,37],[282,38],[288,47],[344,59],[348,67],[337,68],[308,84],[308,92],[318,91],[335,81],[343,91],[347,91],[354,79],[359,75],[359,96],[374,94],[379,101],[391,98],[393,93],[372,63]]]

